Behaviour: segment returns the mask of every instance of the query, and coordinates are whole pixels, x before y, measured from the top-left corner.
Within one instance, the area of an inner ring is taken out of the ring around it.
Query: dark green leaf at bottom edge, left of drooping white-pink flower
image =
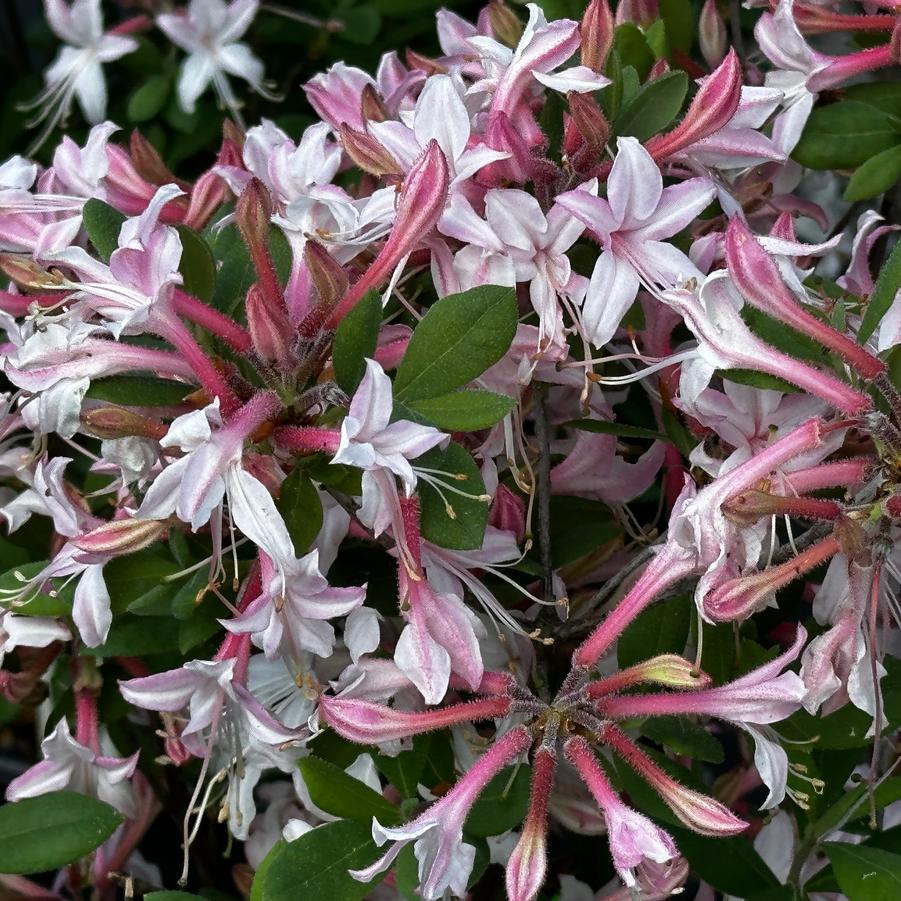
[[[347,871],[369,866],[380,853],[369,823],[339,820],[317,826],[275,855],[264,874],[260,901],[362,901],[380,880],[358,882]]]

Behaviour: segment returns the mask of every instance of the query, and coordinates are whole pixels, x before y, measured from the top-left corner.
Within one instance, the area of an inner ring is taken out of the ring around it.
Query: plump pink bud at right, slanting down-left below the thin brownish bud
[[[773,593],[841,551],[834,536],[824,538],[779,566],[730,579],[704,598],[704,613],[714,622],[744,620],[766,606]]]

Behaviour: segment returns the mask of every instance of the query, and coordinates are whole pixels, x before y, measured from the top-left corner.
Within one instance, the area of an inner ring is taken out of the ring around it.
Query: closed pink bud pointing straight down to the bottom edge
[[[541,747],[532,763],[529,812],[519,841],[507,861],[506,881],[509,901],[532,901],[547,873],[547,805],[554,786],[557,755]]]

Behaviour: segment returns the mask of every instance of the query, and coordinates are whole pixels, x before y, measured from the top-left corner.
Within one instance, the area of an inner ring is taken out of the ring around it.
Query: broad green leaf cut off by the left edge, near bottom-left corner
[[[0,807],[0,873],[56,870],[102,845],[122,823],[109,804],[49,792]]]

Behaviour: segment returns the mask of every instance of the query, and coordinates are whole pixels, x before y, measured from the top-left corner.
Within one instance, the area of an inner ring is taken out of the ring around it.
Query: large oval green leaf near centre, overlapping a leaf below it
[[[405,403],[438,397],[478,378],[516,334],[516,292],[482,285],[442,297],[416,326],[394,380]]]

